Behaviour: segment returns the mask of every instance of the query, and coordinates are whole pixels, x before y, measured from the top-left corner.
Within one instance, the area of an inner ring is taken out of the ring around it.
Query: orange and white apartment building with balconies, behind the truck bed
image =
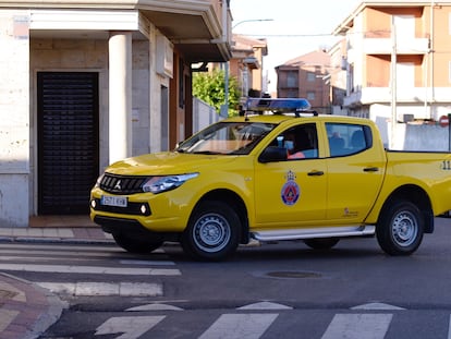
[[[341,106],[375,120],[387,144],[403,148],[409,124],[451,112],[451,1],[363,1],[333,34],[344,37]],[[438,131],[422,133],[444,140]]]

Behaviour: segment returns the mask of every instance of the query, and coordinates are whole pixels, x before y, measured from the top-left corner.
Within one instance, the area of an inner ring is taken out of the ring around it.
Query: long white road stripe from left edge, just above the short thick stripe
[[[73,265],[33,265],[33,264],[0,264],[0,270],[24,270],[60,274],[98,274],[126,276],[180,276],[179,269],[170,268],[126,268],[103,266]]]

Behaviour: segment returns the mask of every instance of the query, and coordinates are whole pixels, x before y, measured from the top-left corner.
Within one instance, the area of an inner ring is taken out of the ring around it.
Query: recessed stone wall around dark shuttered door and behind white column
[[[153,40],[155,41],[155,39]],[[132,137],[133,155],[160,150],[161,114],[160,87],[169,87],[169,78],[157,75],[155,44],[149,40],[133,41],[132,66]],[[93,71],[99,74],[99,160],[100,171],[109,165],[109,90],[108,90],[108,40],[102,39],[31,39],[32,74],[31,101],[31,175],[29,204],[37,210],[37,126],[36,126],[36,74],[39,71]],[[28,196],[27,196],[28,199]],[[27,221],[27,220],[26,220]]]

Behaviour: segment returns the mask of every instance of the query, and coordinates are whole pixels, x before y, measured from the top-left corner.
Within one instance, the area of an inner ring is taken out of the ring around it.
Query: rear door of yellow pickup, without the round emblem
[[[376,201],[385,174],[385,154],[373,143],[365,124],[326,123],[327,219],[331,223],[362,222]]]

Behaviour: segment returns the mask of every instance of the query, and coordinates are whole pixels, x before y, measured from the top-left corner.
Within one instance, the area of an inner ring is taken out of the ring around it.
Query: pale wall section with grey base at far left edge
[[[0,226],[28,223],[29,32],[27,11],[0,10]]]

